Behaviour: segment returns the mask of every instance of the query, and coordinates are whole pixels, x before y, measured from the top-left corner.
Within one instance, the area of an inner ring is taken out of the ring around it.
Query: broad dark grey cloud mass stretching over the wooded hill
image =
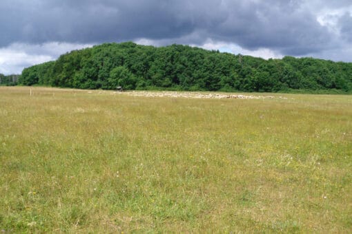
[[[302,1],[292,0],[3,0],[0,46],[14,41],[177,41],[196,32],[199,36],[189,43],[211,38],[250,50],[268,47],[288,54],[322,50],[331,36],[301,5]]]

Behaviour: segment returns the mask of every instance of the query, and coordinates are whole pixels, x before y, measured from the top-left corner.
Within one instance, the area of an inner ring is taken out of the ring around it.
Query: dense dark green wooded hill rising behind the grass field
[[[105,43],[23,70],[20,85],[78,89],[352,92],[352,63],[255,58],[186,45]]]

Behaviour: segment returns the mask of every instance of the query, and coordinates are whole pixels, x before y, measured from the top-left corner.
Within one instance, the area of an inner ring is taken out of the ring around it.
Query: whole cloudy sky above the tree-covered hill
[[[352,0],[1,0],[0,73],[105,42],[352,62]]]

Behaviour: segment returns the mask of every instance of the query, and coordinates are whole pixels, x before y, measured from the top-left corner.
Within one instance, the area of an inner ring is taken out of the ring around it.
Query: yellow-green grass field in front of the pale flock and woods
[[[351,233],[352,96],[280,96],[0,87],[0,229]]]

